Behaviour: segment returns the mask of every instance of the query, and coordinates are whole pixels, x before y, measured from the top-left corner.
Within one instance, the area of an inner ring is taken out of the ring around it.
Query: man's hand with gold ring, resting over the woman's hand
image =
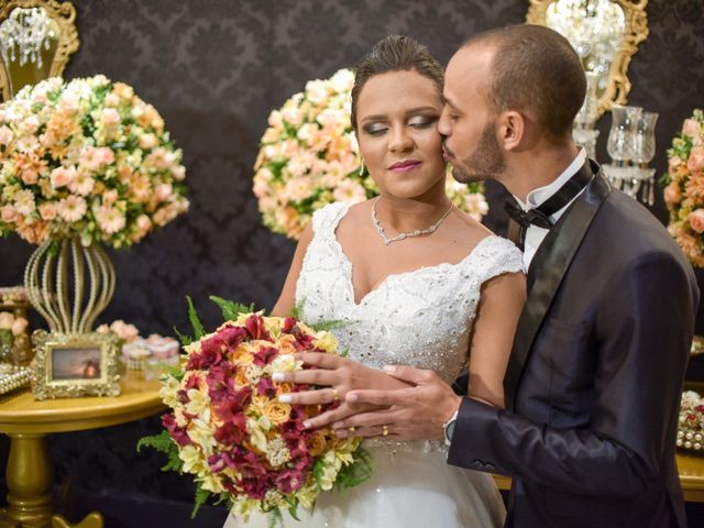
[[[454,394],[433,371],[389,365],[384,371],[410,386],[397,389],[351,391],[345,404],[372,405],[378,410],[363,411],[332,425],[344,437],[393,437],[395,440],[440,440],[443,425],[459,409],[462,397]]]

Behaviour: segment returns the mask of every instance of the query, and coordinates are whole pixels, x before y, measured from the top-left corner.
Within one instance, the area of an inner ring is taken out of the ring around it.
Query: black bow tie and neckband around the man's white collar
[[[537,226],[542,229],[552,228],[550,217],[570,204],[576,195],[590,183],[593,173],[588,160],[582,167],[568,179],[558,191],[548,198],[540,207],[524,211],[517,204],[507,201],[504,209],[508,216],[520,226],[518,246],[522,249],[526,240],[526,231],[529,226]]]

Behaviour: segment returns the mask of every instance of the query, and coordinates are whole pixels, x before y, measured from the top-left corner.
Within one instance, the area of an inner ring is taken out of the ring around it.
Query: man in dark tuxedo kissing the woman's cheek
[[[392,366],[411,386],[348,393],[384,410],[333,427],[444,436],[450,464],[513,477],[507,526],[684,527],[674,441],[698,290],[662,226],[572,142],[584,94],[578,55],[541,26],[481,34],[446,73],[439,130],[455,177],[493,178],[518,204],[528,300],[506,409]]]

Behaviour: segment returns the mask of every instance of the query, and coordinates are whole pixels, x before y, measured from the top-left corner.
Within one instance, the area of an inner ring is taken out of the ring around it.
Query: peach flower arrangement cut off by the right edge
[[[668,230],[688,258],[704,267],[704,112],[684,120],[668,150],[664,202],[670,211]]]

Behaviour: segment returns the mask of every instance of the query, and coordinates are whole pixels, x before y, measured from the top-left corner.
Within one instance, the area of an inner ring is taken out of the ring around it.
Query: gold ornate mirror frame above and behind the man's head
[[[548,25],[546,13],[550,4],[558,0],[530,0],[526,22],[529,24]],[[582,4],[587,4],[583,0]],[[610,0],[610,3],[619,6],[625,15],[624,36],[617,50],[603,91],[598,92],[598,113],[603,114],[610,110],[612,105],[626,103],[626,96],[630,91],[630,80],[628,80],[628,64],[630,58],[638,51],[638,44],[648,36],[648,16],[646,4],[648,0]],[[586,9],[586,8],[580,8]]]

